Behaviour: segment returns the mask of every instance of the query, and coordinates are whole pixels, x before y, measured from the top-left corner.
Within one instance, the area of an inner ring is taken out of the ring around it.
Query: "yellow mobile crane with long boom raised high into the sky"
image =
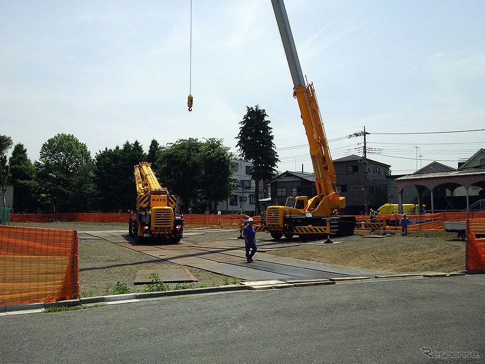
[[[283,0],[272,0],[273,10],[280,30],[283,47],[290,66],[294,84],[294,97],[300,106],[303,125],[310,145],[310,155],[315,171],[317,196],[290,196],[285,206],[266,209],[264,230],[273,239],[294,235],[313,237],[322,234],[349,236],[354,234],[355,217],[338,216],[335,211],[345,207],[345,198],[335,189],[337,178],[327,138],[323,129],[313,84],[306,85],[290,29],[290,22]]]

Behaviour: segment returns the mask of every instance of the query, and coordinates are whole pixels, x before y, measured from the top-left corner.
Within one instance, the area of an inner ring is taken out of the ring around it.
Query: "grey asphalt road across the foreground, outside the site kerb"
[[[484,289],[401,278],[8,315],[0,362],[481,363]]]

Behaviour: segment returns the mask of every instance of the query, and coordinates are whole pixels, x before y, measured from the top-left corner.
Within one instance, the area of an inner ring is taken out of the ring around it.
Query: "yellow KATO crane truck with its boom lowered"
[[[148,162],[135,165],[136,214],[130,216],[129,232],[136,241],[159,238],[179,243],[183,217],[175,214],[177,199],[158,183]]]

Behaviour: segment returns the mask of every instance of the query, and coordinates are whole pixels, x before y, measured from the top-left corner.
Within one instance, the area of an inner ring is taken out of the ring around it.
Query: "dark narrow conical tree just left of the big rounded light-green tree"
[[[11,181],[14,185],[14,209],[17,213],[34,213],[37,210],[36,168],[27,156],[24,144],[14,146],[9,158]]]

